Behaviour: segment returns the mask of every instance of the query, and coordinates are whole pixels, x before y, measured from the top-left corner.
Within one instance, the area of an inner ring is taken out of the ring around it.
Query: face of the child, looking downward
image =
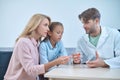
[[[54,28],[53,32],[50,32],[49,36],[53,41],[58,42],[62,38],[63,31],[63,27],[58,25]]]

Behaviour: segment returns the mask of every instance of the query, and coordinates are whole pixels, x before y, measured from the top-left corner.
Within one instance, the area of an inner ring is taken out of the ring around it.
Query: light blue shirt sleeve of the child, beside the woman
[[[47,56],[47,47],[44,42],[42,42],[39,46],[39,53],[40,53],[40,64],[48,63],[48,56]]]

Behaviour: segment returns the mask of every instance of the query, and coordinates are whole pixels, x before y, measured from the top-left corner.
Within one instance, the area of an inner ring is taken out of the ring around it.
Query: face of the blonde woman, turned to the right
[[[49,20],[45,18],[38,26],[37,33],[40,37],[46,37],[49,31]]]

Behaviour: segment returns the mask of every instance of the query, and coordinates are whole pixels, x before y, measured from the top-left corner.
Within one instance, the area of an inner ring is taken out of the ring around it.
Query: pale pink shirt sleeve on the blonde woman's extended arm
[[[38,76],[39,74],[45,73],[44,65],[37,65],[34,62],[28,42],[21,42],[17,46],[17,49],[18,59],[28,75]]]

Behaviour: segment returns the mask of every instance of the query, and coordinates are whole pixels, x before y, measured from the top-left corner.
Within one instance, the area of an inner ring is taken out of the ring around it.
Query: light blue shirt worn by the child
[[[39,53],[40,64],[48,63],[60,56],[67,56],[67,52],[62,41],[57,42],[54,48],[49,40],[42,41],[39,46]]]

